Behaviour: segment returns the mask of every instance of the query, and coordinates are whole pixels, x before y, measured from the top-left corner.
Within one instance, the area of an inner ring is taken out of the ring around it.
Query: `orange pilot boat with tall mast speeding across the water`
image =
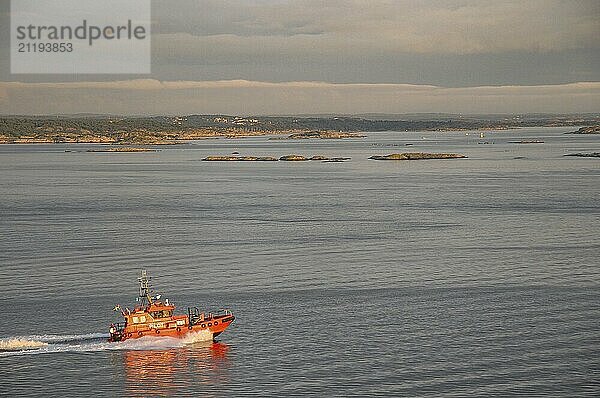
[[[121,309],[117,305],[114,310],[121,310],[124,322],[110,325],[108,341],[124,341],[140,337],[175,337],[183,338],[190,333],[209,332],[214,339],[231,325],[235,317],[229,310],[213,314],[200,312],[196,307],[188,307],[187,315],[173,315],[175,306],[159,301],[160,295],[152,296],[150,278],[142,271],[138,278],[140,282],[139,304],[133,311]]]

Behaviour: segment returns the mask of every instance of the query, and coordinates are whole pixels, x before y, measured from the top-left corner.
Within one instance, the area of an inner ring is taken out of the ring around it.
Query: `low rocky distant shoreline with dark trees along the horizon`
[[[0,117],[0,144],[173,145],[203,139],[278,135],[276,139],[360,138],[362,132],[485,131],[523,127],[600,125],[600,115],[450,117],[372,120],[359,117],[240,117],[227,115],[153,117]]]

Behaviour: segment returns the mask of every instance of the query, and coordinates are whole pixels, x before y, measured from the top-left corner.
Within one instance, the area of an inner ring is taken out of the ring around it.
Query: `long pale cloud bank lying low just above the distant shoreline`
[[[600,112],[600,82],[445,88],[410,84],[159,81],[0,83],[3,114]]]

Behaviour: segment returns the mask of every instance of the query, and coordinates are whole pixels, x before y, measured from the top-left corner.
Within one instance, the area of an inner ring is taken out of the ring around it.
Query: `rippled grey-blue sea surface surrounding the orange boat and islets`
[[[563,155],[600,136],[570,130],[0,145],[0,395],[597,396],[600,162]],[[352,160],[201,161],[233,151]],[[468,159],[367,159],[403,151]],[[236,321],[107,343],[142,268]]]

